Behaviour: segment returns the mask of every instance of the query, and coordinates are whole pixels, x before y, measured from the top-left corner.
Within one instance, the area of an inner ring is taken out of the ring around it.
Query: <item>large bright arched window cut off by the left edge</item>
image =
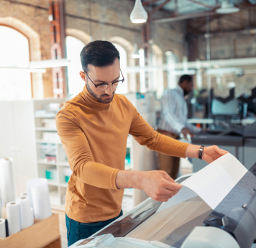
[[[0,67],[29,68],[29,41],[15,29],[0,26]],[[28,70],[0,70],[0,100],[32,98],[31,76]]]

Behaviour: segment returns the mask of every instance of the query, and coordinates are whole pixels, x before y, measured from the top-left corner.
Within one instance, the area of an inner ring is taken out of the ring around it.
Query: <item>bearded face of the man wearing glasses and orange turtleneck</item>
[[[119,80],[120,77],[120,63],[118,58],[114,60],[113,65],[108,65],[106,67],[96,67],[93,65],[88,65],[88,76],[91,78],[95,85],[99,85],[101,83],[112,83],[116,80]],[[90,79],[86,76],[86,74],[81,71],[80,76],[83,81],[86,82],[86,86],[88,91],[98,99],[99,102],[103,104],[109,104],[113,98],[116,89],[109,84],[108,88],[105,91],[97,91],[96,87],[93,86]]]

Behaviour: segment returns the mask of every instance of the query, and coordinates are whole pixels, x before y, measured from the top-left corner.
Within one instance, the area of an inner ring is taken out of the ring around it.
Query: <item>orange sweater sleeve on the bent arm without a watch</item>
[[[119,170],[92,161],[88,140],[73,112],[60,111],[56,116],[56,127],[70,168],[78,180],[97,188],[117,189],[116,173]]]

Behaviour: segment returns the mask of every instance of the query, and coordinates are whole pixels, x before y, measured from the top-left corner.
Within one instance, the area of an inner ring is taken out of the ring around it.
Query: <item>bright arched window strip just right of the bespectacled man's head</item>
[[[124,75],[124,83],[121,87],[116,88],[116,93],[125,94],[128,93],[128,78],[127,78],[127,51],[117,43],[112,42],[112,44],[116,47],[120,54],[120,68]]]

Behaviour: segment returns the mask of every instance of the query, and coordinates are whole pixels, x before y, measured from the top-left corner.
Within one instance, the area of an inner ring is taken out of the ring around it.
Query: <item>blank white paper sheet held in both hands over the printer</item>
[[[167,203],[163,203],[162,206],[158,208],[157,212],[163,211],[182,201],[186,201],[194,197],[195,194],[200,196],[214,209],[247,171],[244,165],[230,153],[219,157],[217,160],[211,162],[211,164],[180,183],[183,185],[181,190],[170,198]]]

